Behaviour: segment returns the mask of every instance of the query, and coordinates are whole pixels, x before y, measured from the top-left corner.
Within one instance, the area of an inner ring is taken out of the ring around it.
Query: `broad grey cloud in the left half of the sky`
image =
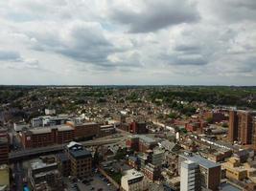
[[[117,51],[105,38],[103,30],[94,23],[79,22],[58,32],[30,35],[36,39],[33,46],[36,51],[60,53],[81,62],[105,67],[111,65],[107,63],[107,56]]]

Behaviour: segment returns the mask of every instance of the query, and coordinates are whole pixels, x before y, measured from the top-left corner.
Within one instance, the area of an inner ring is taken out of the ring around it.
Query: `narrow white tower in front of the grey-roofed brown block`
[[[199,165],[192,160],[181,162],[180,166],[180,191],[200,190]]]

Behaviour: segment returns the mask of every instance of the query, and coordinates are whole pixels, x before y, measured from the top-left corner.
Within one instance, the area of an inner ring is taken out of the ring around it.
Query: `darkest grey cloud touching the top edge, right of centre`
[[[113,9],[112,19],[129,26],[129,32],[154,32],[199,19],[195,5],[187,0],[149,0],[141,11]]]

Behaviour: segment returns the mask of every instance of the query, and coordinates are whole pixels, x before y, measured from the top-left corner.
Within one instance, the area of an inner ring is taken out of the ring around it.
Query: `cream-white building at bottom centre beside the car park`
[[[121,179],[122,189],[125,191],[143,191],[149,188],[149,181],[141,172],[130,169]]]

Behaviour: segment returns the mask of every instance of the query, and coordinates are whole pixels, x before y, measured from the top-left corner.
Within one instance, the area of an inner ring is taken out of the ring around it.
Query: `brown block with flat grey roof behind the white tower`
[[[178,172],[179,175],[181,173],[181,163],[191,160],[198,164],[199,166],[199,179],[198,185],[200,186],[199,190],[219,190],[220,182],[221,182],[221,165],[219,163],[210,161],[208,159],[204,159],[198,155],[194,155],[193,153],[183,153],[179,155],[178,158]],[[182,179],[182,178],[181,178]]]

